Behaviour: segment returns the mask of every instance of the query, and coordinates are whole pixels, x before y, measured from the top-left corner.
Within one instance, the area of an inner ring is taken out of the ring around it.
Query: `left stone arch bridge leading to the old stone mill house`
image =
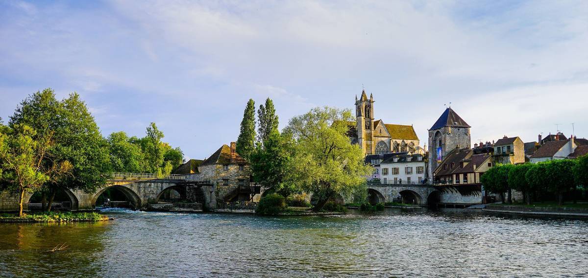
[[[131,206],[136,209],[143,209],[150,203],[157,203],[163,192],[168,189],[176,190],[181,199],[191,199],[188,195],[199,196],[203,205],[216,207],[216,196],[213,185],[206,183],[186,182],[183,178],[173,177],[171,179],[109,179],[105,186],[99,187],[93,192],[82,190],[65,190],[69,197],[72,210],[95,209],[96,200],[106,189],[118,189]],[[26,194],[23,202],[23,209],[28,209],[28,202],[32,194]],[[99,204],[101,205],[101,204]],[[0,211],[18,210],[18,194],[0,192]]]

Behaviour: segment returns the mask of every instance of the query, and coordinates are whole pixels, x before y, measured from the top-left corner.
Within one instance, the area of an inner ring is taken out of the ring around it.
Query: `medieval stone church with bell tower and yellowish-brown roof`
[[[365,155],[425,153],[419,146],[419,138],[412,125],[394,125],[373,118],[374,100],[371,93],[369,99],[365,90],[360,99],[355,96],[355,110],[357,120],[355,123],[349,122],[349,138],[363,149]]]

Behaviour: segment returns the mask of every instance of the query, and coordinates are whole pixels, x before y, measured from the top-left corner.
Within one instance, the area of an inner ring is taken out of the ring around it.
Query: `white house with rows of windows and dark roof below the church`
[[[380,162],[382,184],[423,184],[426,182],[426,159],[420,153],[393,155]]]

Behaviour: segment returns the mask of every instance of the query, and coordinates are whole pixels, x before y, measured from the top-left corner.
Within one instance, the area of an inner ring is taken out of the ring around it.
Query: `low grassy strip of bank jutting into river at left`
[[[110,220],[108,216],[98,212],[39,212],[25,214],[18,217],[12,214],[0,215],[0,222],[76,222],[76,221],[105,221]]]

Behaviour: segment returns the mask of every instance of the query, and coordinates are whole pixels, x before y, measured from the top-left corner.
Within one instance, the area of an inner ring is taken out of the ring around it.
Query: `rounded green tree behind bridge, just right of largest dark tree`
[[[130,173],[146,171],[141,145],[131,142],[125,132],[113,132],[108,136],[107,141],[113,171]]]

